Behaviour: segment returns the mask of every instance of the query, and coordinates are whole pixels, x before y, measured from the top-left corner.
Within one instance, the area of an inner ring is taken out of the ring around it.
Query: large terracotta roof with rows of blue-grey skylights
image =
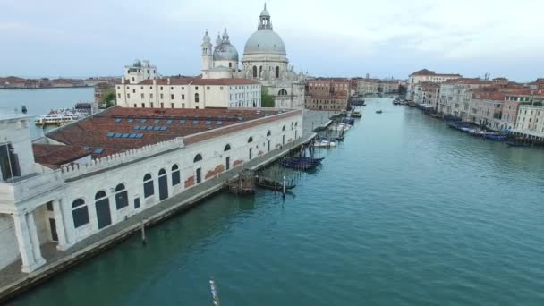
[[[276,120],[276,109],[255,108],[123,108],[104,112],[67,124],[46,134],[66,145],[102,148],[93,157],[105,157],[177,137],[244,123],[253,119]],[[287,113],[283,113],[287,114]],[[137,136],[135,136],[137,135]]]

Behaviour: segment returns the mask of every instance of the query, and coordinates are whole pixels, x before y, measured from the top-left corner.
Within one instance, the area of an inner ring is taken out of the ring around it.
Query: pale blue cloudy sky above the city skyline
[[[204,30],[241,57],[263,1],[0,0],[0,76],[119,75],[135,58],[199,74]],[[268,0],[295,70],[406,78],[544,76],[543,0]]]

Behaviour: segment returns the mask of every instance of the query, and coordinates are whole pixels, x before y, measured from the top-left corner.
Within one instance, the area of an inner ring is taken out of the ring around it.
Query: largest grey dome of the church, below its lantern
[[[272,29],[259,29],[253,33],[243,48],[244,55],[287,55],[282,38]]]

